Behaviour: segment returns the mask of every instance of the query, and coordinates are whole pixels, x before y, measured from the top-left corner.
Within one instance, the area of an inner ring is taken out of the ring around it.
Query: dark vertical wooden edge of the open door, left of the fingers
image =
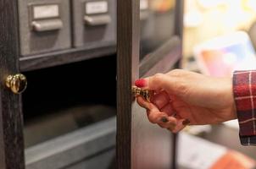
[[[131,168],[131,84],[138,78],[139,1],[117,0],[117,166]]]

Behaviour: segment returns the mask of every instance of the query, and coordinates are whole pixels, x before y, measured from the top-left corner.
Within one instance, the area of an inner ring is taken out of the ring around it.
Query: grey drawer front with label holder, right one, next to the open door
[[[72,0],[74,46],[93,48],[116,41],[115,0]]]

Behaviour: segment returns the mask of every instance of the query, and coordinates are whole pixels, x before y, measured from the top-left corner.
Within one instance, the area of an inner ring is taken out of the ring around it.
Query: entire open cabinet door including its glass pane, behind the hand
[[[175,136],[148,122],[145,110],[131,95],[131,86],[136,79],[166,73],[178,65],[183,1],[117,2],[117,166],[175,168]]]

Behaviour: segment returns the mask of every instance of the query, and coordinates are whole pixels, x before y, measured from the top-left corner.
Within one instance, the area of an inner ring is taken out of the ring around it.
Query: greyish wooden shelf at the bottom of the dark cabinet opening
[[[25,166],[27,169],[71,168],[83,161],[87,166],[94,166],[89,168],[107,168],[104,164],[114,158],[115,135],[116,117],[110,117],[25,149]],[[110,152],[101,158],[106,151]],[[95,158],[90,162],[92,157]]]

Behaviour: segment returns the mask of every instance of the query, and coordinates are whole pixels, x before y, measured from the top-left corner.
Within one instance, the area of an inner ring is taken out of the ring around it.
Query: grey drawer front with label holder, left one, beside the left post
[[[70,48],[70,1],[19,1],[21,55]]]

